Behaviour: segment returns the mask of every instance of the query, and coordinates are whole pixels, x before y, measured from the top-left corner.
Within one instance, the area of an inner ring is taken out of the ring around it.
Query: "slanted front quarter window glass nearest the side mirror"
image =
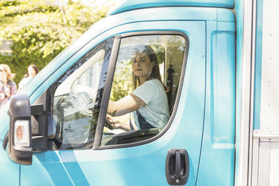
[[[50,88],[50,150],[92,148],[113,39],[78,60]]]

